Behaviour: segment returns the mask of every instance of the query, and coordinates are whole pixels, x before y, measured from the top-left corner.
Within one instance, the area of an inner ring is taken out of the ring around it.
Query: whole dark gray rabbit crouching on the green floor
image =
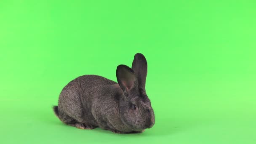
[[[155,124],[145,91],[147,60],[134,56],[132,69],[117,66],[117,82],[98,75],[83,75],[61,91],[53,110],[67,125],[80,129],[100,127],[114,133],[139,133]]]

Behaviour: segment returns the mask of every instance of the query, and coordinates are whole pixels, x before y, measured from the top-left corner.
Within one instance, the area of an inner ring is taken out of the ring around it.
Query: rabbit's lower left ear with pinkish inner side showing
[[[117,66],[117,82],[123,91],[131,90],[135,82],[135,74],[133,70],[126,65]]]

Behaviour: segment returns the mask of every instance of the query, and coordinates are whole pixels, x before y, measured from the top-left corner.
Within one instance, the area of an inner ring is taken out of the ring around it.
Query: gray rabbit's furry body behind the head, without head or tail
[[[118,113],[118,83],[98,75],[83,75],[67,84],[59,96],[58,117],[80,128],[100,127],[114,132],[132,132]]]

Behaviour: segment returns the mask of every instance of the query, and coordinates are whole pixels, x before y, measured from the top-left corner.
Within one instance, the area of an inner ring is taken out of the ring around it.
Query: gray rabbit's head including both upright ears
[[[119,65],[117,81],[123,94],[119,101],[122,122],[133,131],[143,131],[155,124],[155,115],[145,91],[147,61],[141,53],[134,56],[132,69]]]

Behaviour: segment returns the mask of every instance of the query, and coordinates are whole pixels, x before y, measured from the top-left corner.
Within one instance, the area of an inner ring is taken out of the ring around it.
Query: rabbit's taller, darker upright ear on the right
[[[138,79],[139,88],[145,89],[147,77],[147,60],[141,53],[136,53],[133,59],[132,69]]]

